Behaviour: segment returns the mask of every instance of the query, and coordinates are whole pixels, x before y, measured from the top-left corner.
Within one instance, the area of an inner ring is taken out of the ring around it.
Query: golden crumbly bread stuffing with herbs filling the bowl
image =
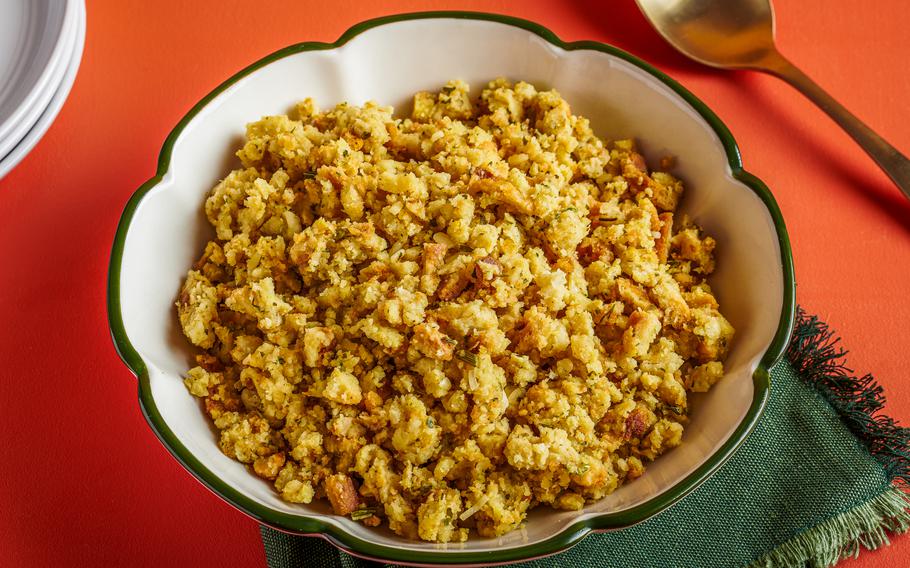
[[[678,179],[523,82],[293,114],[247,126],[177,301],[225,454],[292,503],[457,542],[680,443],[733,328]]]

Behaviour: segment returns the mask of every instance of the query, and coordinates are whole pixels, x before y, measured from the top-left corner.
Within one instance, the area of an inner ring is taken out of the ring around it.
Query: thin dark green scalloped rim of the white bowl
[[[381,545],[357,538],[334,525],[324,523],[317,519],[276,511],[243,495],[199,462],[199,460],[197,460],[196,457],[180,443],[162,419],[151,395],[149,374],[145,362],[130,343],[130,339],[126,334],[123,324],[123,316],[120,308],[120,268],[123,259],[123,246],[136,207],[149,190],[155,187],[167,172],[170,166],[171,151],[173,150],[174,143],[180,136],[180,133],[212,99],[246,75],[289,55],[304,51],[335,49],[343,46],[357,35],[372,28],[395,22],[427,18],[480,20],[521,28],[534,33],[551,44],[567,51],[593,50],[618,57],[643,69],[673,89],[674,92],[688,102],[711,128],[714,129],[714,132],[720,138],[724,150],[726,151],[727,161],[730,164],[733,177],[751,188],[768,208],[768,213],[771,215],[771,219],[773,220],[777,231],[778,244],[780,245],[781,253],[781,268],[784,278],[783,307],[780,314],[780,323],[778,324],[774,339],[771,341],[768,350],[762,356],[758,368],[753,374],[754,395],[752,404],[749,407],[746,416],[733,434],[704,464],[682,480],[678,481],[670,489],[633,508],[615,513],[604,513],[597,517],[575,522],[561,530],[558,534],[532,545],[503,548],[489,552],[466,552],[451,549],[445,552],[430,550],[413,551]],[[477,12],[439,11],[417,12],[376,18],[351,27],[334,43],[304,42],[286,47],[239,71],[230,79],[216,87],[201,101],[196,103],[186,116],[177,123],[177,126],[174,127],[164,141],[164,145],[162,146],[161,153],[158,157],[158,169],[155,176],[136,190],[124,208],[120,223],[117,226],[117,233],[111,251],[111,264],[108,272],[107,307],[111,335],[117,353],[120,355],[120,358],[123,359],[124,363],[126,363],[139,378],[139,403],[146,420],[168,451],[170,451],[170,453],[183,464],[196,479],[216,495],[262,524],[295,534],[320,535],[342,550],[357,556],[408,563],[486,564],[514,562],[547,556],[566,550],[580,542],[591,532],[615,530],[634,525],[673,505],[713,474],[732,455],[736,448],[743,443],[748,434],[755,427],[755,424],[768,401],[771,388],[769,369],[771,369],[784,354],[790,339],[790,334],[793,331],[795,313],[794,289],[793,257],[790,250],[790,240],[787,236],[784,219],[774,197],[771,195],[768,187],[760,179],[743,169],[739,148],[736,145],[736,141],[733,139],[733,135],[730,134],[730,131],[717,115],[696,98],[695,95],[650,64],[611,45],[595,41],[564,42],[559,39],[556,34],[539,24],[509,16]]]

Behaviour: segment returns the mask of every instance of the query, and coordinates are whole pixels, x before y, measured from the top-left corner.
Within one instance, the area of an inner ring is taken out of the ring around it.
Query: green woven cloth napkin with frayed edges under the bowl
[[[844,366],[827,326],[800,311],[755,431],[710,479],[652,519],[592,534],[549,568],[830,566],[910,528],[910,429],[882,389]],[[379,566],[322,539],[262,527],[270,568]]]

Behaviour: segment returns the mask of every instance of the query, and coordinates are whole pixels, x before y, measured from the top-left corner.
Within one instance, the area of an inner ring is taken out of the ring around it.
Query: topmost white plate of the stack
[[[47,106],[61,76],[55,71],[69,59],[67,31],[74,29],[79,4],[0,0],[0,141]]]

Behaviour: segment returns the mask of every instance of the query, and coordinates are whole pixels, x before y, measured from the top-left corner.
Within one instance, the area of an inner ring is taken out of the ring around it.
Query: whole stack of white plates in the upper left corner
[[[0,178],[60,112],[84,44],[84,0],[0,0]]]

